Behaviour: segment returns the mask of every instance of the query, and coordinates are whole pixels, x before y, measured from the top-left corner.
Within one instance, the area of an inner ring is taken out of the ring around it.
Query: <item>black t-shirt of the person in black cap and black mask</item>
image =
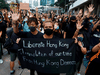
[[[74,33],[76,31],[76,25],[74,25],[73,27],[69,25],[67,25],[64,29],[64,32],[66,32],[66,38],[72,38],[74,36]]]

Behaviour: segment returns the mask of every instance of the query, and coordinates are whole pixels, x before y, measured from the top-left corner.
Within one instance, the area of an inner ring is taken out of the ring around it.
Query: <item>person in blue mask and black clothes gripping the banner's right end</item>
[[[87,46],[85,44],[85,36],[84,36],[84,32],[79,32],[78,36],[77,36],[77,44],[76,44],[76,70],[77,75],[81,75],[80,74],[80,68],[81,68],[81,64],[84,58],[84,55],[87,53]]]

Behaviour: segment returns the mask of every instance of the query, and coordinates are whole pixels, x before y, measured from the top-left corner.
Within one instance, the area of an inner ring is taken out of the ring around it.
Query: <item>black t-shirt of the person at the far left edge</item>
[[[5,42],[6,28],[7,28],[7,25],[4,21],[2,23],[0,23],[0,31],[2,31],[0,42],[2,42],[2,43]]]

